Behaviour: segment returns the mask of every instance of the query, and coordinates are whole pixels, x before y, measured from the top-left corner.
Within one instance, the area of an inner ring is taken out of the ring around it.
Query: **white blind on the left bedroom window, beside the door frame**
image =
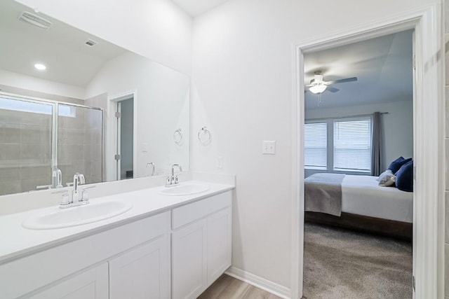
[[[327,169],[327,137],[327,123],[306,123],[304,125],[304,167]]]

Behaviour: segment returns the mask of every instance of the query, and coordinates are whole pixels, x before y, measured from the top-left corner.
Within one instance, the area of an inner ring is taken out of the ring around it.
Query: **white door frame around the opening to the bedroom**
[[[304,256],[304,53],[415,29],[413,298],[444,296],[444,82],[441,4],[293,45],[291,298],[302,297]]]

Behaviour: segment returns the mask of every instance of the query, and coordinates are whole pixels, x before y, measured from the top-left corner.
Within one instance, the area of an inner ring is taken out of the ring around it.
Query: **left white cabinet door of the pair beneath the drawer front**
[[[203,218],[172,233],[173,299],[196,298],[206,289],[206,225]]]

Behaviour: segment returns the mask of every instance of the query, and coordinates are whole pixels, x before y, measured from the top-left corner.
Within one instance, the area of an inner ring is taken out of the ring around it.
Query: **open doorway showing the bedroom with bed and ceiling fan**
[[[304,53],[306,298],[412,298],[412,178],[377,181],[413,158],[412,65],[413,30]]]

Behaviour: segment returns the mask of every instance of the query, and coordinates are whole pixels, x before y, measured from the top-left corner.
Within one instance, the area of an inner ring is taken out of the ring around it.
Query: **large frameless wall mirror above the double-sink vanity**
[[[0,40],[0,195],[189,169],[188,76],[13,0]]]

